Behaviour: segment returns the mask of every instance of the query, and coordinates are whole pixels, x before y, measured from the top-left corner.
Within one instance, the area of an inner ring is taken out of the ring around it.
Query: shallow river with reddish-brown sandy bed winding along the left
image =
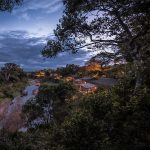
[[[30,99],[35,97],[35,91],[37,93],[39,86],[36,81],[30,82],[30,85],[26,87],[25,96],[19,96],[8,103],[8,106],[4,110],[2,118],[0,118],[0,128],[8,128],[10,130],[17,130],[24,126],[24,119],[22,118],[22,106]]]

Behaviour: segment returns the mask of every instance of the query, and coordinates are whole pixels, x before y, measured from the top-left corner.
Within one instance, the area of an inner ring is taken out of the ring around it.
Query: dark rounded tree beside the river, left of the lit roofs
[[[70,83],[58,85],[43,85],[36,98],[24,106],[28,118],[28,125],[47,125],[52,121],[62,121],[68,113],[66,101],[75,94],[75,88]],[[40,118],[39,122],[34,120]]]

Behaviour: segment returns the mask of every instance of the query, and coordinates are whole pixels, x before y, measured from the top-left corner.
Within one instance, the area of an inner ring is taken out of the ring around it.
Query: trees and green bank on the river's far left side
[[[0,69],[0,101],[13,99],[27,84],[27,77],[20,66],[7,63]]]

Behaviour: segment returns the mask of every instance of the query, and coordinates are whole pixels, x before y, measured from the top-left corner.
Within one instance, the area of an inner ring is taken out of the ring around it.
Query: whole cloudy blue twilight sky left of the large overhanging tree
[[[71,63],[83,65],[92,55],[84,50],[76,55],[61,53],[52,59],[41,56],[62,12],[61,0],[24,0],[11,13],[0,12],[0,67],[7,62],[28,71]]]

